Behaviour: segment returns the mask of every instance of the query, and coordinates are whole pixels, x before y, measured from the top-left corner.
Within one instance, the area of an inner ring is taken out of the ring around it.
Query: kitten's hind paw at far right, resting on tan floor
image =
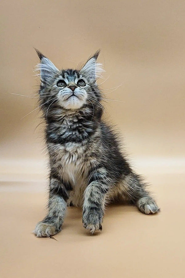
[[[160,211],[158,205],[151,197],[143,197],[138,200],[137,203],[138,209],[145,214],[155,214]]]

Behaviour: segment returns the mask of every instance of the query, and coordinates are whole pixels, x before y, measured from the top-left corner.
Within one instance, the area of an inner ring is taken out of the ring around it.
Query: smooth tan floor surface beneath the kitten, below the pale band
[[[57,241],[31,233],[44,216],[45,192],[1,187],[1,277],[185,277],[185,175],[148,178],[160,214],[113,205],[102,233],[92,236],[82,227],[81,210],[68,208]]]

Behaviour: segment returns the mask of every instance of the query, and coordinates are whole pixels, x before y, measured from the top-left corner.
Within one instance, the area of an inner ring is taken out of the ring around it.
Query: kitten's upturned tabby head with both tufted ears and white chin
[[[40,58],[39,70],[41,79],[40,97],[47,105],[60,105],[67,110],[79,110],[84,106],[92,105],[96,99],[99,102],[97,92],[97,78],[101,77],[102,65],[97,63],[98,50],[88,58],[87,62],[78,70],[59,70],[39,50],[36,52]]]

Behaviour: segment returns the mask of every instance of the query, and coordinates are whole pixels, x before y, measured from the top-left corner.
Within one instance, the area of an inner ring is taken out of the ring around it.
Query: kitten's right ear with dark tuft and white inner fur
[[[102,68],[102,64],[96,62],[98,55],[100,54],[100,49],[91,56],[83,68],[80,70],[80,74],[94,82],[97,78],[101,77],[102,72],[105,70]]]

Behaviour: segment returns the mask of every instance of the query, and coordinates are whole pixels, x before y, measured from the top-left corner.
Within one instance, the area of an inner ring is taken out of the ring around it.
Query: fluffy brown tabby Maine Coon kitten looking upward
[[[92,234],[102,230],[105,205],[114,200],[130,200],[142,213],[157,213],[146,184],[121,153],[117,135],[101,119],[100,51],[78,70],[58,70],[36,51],[51,171],[48,213],[36,225],[35,235],[58,233],[67,205],[82,207],[84,228]]]

